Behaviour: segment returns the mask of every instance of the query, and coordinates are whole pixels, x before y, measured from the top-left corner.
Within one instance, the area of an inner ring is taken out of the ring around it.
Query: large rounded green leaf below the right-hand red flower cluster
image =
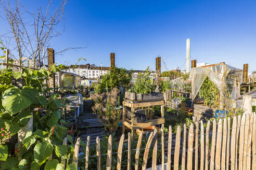
[[[34,159],[35,162],[39,165],[42,165],[52,154],[53,146],[47,141],[42,141],[39,144],[36,144],[34,147]]]

